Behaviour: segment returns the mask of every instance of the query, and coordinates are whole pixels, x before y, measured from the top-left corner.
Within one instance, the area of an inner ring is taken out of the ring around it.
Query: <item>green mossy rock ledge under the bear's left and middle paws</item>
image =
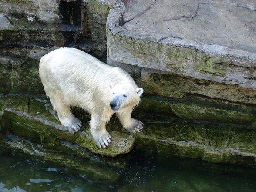
[[[45,99],[45,98],[44,98]],[[56,149],[61,145],[56,139],[64,139],[88,148],[94,153],[114,157],[131,151],[134,137],[129,133],[110,131],[113,137],[112,145],[106,149],[98,148],[92,138],[88,122],[83,123],[82,130],[76,135],[68,133],[66,128],[57,121],[51,105],[42,99],[28,97],[2,98],[3,111],[8,119],[8,130],[14,135],[39,143],[44,148]]]

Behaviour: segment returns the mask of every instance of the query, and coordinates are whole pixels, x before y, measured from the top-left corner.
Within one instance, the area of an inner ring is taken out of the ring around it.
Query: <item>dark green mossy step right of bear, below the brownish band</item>
[[[254,105],[214,100],[198,95],[187,95],[181,99],[145,95],[136,111],[190,121],[203,120],[256,128]]]

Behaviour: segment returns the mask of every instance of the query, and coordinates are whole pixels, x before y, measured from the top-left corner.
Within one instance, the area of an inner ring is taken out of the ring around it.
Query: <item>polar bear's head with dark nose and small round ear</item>
[[[118,111],[128,105],[132,107],[137,105],[143,93],[142,88],[134,88],[127,84],[109,85],[109,89],[112,96],[109,106],[113,111]]]

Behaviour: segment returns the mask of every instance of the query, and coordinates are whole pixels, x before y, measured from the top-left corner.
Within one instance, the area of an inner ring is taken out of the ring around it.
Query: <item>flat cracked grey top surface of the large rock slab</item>
[[[132,0],[123,27],[256,53],[255,11],[252,0]]]

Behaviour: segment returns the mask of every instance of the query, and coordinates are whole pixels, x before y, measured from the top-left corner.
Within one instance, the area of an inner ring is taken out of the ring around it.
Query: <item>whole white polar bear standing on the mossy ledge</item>
[[[127,131],[142,131],[143,123],[131,118],[131,111],[140,102],[143,89],[121,68],[75,48],[59,48],[40,59],[39,74],[59,121],[71,134],[81,128],[81,121],[70,106],[91,114],[90,130],[99,148],[111,144],[105,124],[113,113]]]

